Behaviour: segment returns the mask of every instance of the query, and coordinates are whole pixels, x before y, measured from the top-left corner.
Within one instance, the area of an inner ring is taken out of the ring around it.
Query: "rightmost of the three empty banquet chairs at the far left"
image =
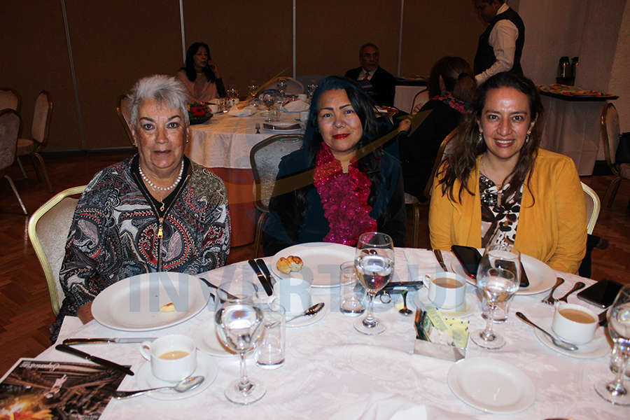
[[[35,160],[39,161],[41,170],[43,172],[46,184],[48,184],[48,190],[52,193],[52,184],[48,178],[48,171],[46,165],[43,162],[43,158],[39,152],[45,148],[48,144],[48,130],[50,130],[50,116],[52,114],[52,101],[50,100],[50,94],[45,90],[39,92],[37,99],[35,100],[35,109],[33,112],[33,123],[31,124],[31,137],[18,139],[18,165],[22,169],[22,174],[25,178],[28,178],[20,157],[31,156],[33,160],[33,166],[35,167]],[[37,168],[35,167],[35,173],[39,178]]]

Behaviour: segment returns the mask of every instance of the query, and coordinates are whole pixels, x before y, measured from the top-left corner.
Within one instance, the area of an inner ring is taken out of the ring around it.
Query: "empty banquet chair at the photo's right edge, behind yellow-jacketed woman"
[[[600,132],[606,163],[608,163],[612,174],[615,175],[615,179],[610,182],[610,186],[606,189],[603,200],[606,207],[610,209],[612,202],[615,201],[615,195],[617,195],[621,181],[630,179],[630,163],[615,162],[615,153],[617,152],[617,146],[619,146],[619,135],[621,132],[619,128],[619,114],[615,105],[606,104],[601,111]]]

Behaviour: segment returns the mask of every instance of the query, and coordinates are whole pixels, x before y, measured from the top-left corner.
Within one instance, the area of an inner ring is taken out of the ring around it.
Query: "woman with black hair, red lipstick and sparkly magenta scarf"
[[[351,80],[328,77],[311,101],[304,144],[279,165],[263,247],[327,241],[354,246],[363,232],[405,239],[400,162],[381,148],[374,104]]]

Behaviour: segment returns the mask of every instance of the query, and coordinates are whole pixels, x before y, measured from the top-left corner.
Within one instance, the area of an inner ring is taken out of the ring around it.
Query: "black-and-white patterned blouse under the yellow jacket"
[[[503,197],[503,191],[510,188],[506,183],[499,194],[496,184],[484,174],[479,174],[479,193],[482,204],[482,247],[489,245],[514,245],[523,186],[512,197]]]

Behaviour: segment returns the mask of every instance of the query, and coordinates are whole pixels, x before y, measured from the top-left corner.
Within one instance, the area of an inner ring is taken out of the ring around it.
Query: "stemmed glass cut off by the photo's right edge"
[[[612,381],[595,384],[598,395],[612,404],[630,405],[629,388],[624,386],[624,374],[630,358],[630,285],[626,284],[615,297],[608,312],[608,331],[615,342],[613,354],[617,357],[617,375]]]

